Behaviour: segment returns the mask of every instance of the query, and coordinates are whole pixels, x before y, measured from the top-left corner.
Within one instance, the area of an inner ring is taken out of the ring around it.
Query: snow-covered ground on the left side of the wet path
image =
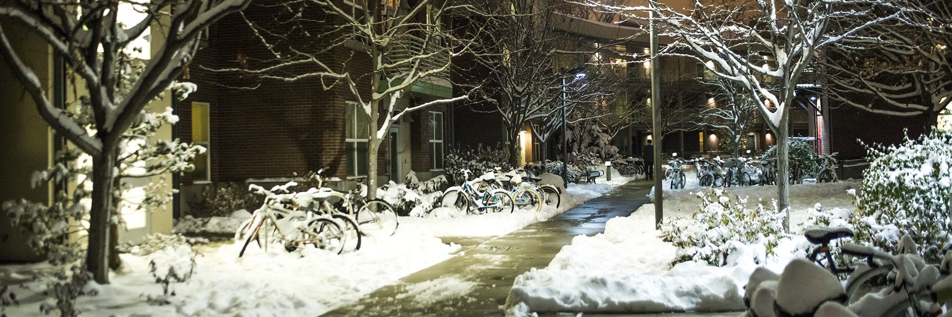
[[[621,184],[630,179],[613,179]],[[113,273],[108,286],[93,285],[99,295],[81,297],[83,316],[317,316],[351,303],[363,295],[397,282],[400,278],[446,260],[460,251],[446,245],[441,236],[490,237],[503,235],[528,224],[544,221],[602,195],[610,185],[570,185],[560,208],[542,211],[482,215],[432,212],[424,218],[401,217],[397,233],[386,238],[366,238],[359,251],[336,255],[317,249],[290,252],[282,246],[265,251],[248,248],[238,258],[240,244],[200,247],[194,275],[173,287],[175,296],[167,305],[149,304],[162,294],[149,273],[156,257],[184,258],[188,248],[167,249],[149,256],[123,254],[124,268]],[[189,226],[207,226],[206,231],[234,230],[241,223],[222,218]],[[210,223],[210,224],[209,224]],[[196,228],[193,228],[196,229]],[[0,266],[0,285],[29,281],[46,265]],[[466,292],[466,286],[441,292]],[[51,301],[36,282],[10,287],[20,305],[6,307],[8,316],[42,316],[42,301]],[[424,290],[421,290],[424,291]],[[426,290],[429,291],[429,290]]]

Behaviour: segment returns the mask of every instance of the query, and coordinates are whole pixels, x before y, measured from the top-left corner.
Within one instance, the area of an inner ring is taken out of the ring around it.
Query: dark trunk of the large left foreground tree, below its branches
[[[103,142],[103,152],[92,159],[92,208],[89,210],[89,245],[86,266],[92,279],[109,284],[109,223],[112,216],[112,169],[116,150]]]

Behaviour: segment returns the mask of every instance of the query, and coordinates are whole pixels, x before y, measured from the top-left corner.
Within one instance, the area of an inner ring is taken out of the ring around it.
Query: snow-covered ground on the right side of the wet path
[[[693,175],[688,175],[691,180]],[[687,215],[698,208],[697,182],[688,188],[664,190],[664,215]],[[859,183],[803,184],[790,188],[791,230],[802,232],[807,208],[852,211],[846,191]],[[776,197],[774,186],[727,188],[756,205],[757,198]],[[752,207],[752,206],[751,206]],[[670,266],[676,248],[659,238],[654,228],[654,205],[646,204],[631,216],[609,220],[605,233],[580,235],[565,246],[548,267],[520,275],[507,301],[509,316],[531,316],[532,311],[664,312],[743,310],[743,287],[754,268],[752,261],[733,267],[711,267],[687,262]],[[781,272],[805,239],[793,235],[777,248],[766,267]],[[799,254],[803,257],[803,253]]]

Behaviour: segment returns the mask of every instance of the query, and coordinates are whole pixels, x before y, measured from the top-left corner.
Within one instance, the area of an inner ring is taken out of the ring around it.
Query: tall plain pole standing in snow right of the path
[[[655,20],[658,16],[655,10],[658,8],[653,1],[649,1],[649,3],[651,5],[651,138],[654,139],[655,144],[655,164],[651,168],[654,168],[655,181],[655,228],[661,228],[661,220],[664,218],[664,207],[662,206],[664,188],[662,188],[661,183],[661,148],[664,143],[661,140],[661,72],[658,71],[661,61],[658,59],[658,21]]]

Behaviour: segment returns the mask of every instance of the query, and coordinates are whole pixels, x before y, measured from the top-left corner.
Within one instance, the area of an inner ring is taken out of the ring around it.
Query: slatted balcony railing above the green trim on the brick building
[[[404,36],[401,41],[389,51],[387,56],[390,56],[390,62],[394,61],[406,61],[413,58],[414,56],[421,56],[426,54],[433,54],[424,58],[420,63],[420,68],[416,69],[417,71],[426,71],[431,69],[439,69],[447,64],[449,64],[449,51],[440,44],[426,41],[420,37],[413,35]],[[407,63],[397,67],[397,70],[401,72],[410,71],[415,63]],[[436,78],[449,80],[449,69],[440,71],[434,74]]]

